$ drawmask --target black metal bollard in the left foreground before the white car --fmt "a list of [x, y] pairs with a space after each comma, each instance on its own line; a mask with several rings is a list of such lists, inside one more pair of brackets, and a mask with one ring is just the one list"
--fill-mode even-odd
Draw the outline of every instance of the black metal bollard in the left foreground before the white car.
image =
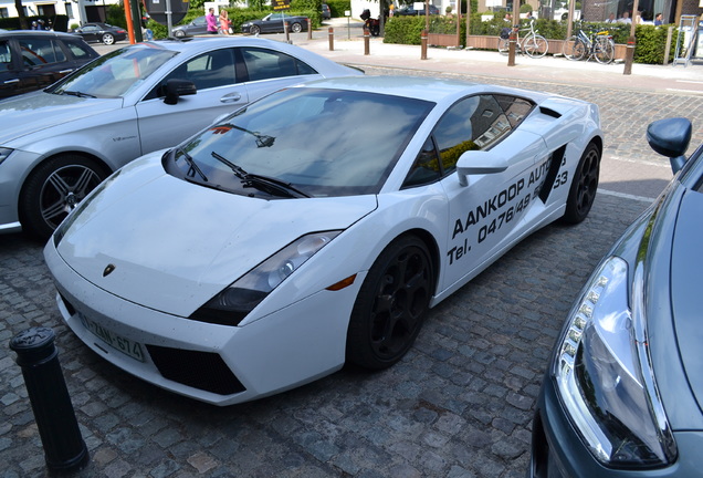
[[66, 382], [54, 346], [54, 331], [32, 328], [10, 341], [22, 368], [46, 466], [52, 471], [73, 471], [88, 463]]

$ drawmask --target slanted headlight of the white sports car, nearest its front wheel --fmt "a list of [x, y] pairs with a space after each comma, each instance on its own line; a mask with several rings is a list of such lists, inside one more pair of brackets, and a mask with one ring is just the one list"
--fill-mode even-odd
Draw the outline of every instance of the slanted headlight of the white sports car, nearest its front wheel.
[[340, 230], [303, 236], [242, 276], [212, 298], [190, 319], [222, 325], [238, 325], [285, 278], [329, 243]]

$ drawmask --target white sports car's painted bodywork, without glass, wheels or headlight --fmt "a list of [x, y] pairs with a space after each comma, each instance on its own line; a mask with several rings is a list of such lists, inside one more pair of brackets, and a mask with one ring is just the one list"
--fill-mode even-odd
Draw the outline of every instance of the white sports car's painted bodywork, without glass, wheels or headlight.
[[[264, 200], [174, 177], [164, 170], [160, 153], [125, 166], [81, 211], [57, 247], [50, 241], [45, 248], [62, 315], [91, 349], [158, 386], [218, 405], [332, 373], [344, 364], [349, 318], [364, 280], [389, 245], [408, 233], [423, 238], [436, 258], [429, 303], [436, 305], [525, 236], [564, 215], [581, 154], [601, 135], [597, 107], [539, 93], [485, 85], [461, 90], [431, 79], [339, 79], [313, 86], [433, 98], [438, 104], [377, 195]], [[532, 97], [543, 102], [542, 110], [533, 110], [487, 154], [463, 153], [457, 167], [469, 172], [468, 185], [454, 172], [401, 188], [443, 112], [466, 94], [483, 92]], [[329, 230], [342, 232], [238, 326], [187, 319], [296, 238]], [[103, 277], [108, 264], [114, 271]], [[348, 287], [327, 289], [345, 279], [352, 279]], [[130, 341], [213, 352], [245, 391], [220, 395], [167, 380], [148, 356], [139, 362], [103, 344], [65, 302]]]

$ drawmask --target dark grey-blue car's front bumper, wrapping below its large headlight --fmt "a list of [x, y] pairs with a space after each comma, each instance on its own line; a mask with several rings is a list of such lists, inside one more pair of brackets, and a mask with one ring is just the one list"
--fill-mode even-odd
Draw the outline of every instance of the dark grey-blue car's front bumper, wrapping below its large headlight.
[[674, 432], [675, 463], [654, 469], [607, 468], [594, 458], [571, 426], [547, 374], [537, 398], [532, 430], [528, 478], [673, 478], [700, 476], [703, 433]]

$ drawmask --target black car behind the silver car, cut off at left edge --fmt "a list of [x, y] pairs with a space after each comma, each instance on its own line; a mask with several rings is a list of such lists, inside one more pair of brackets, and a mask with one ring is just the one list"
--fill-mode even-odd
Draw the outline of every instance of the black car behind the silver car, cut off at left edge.
[[40, 90], [99, 54], [69, 33], [0, 32], [0, 98]]

